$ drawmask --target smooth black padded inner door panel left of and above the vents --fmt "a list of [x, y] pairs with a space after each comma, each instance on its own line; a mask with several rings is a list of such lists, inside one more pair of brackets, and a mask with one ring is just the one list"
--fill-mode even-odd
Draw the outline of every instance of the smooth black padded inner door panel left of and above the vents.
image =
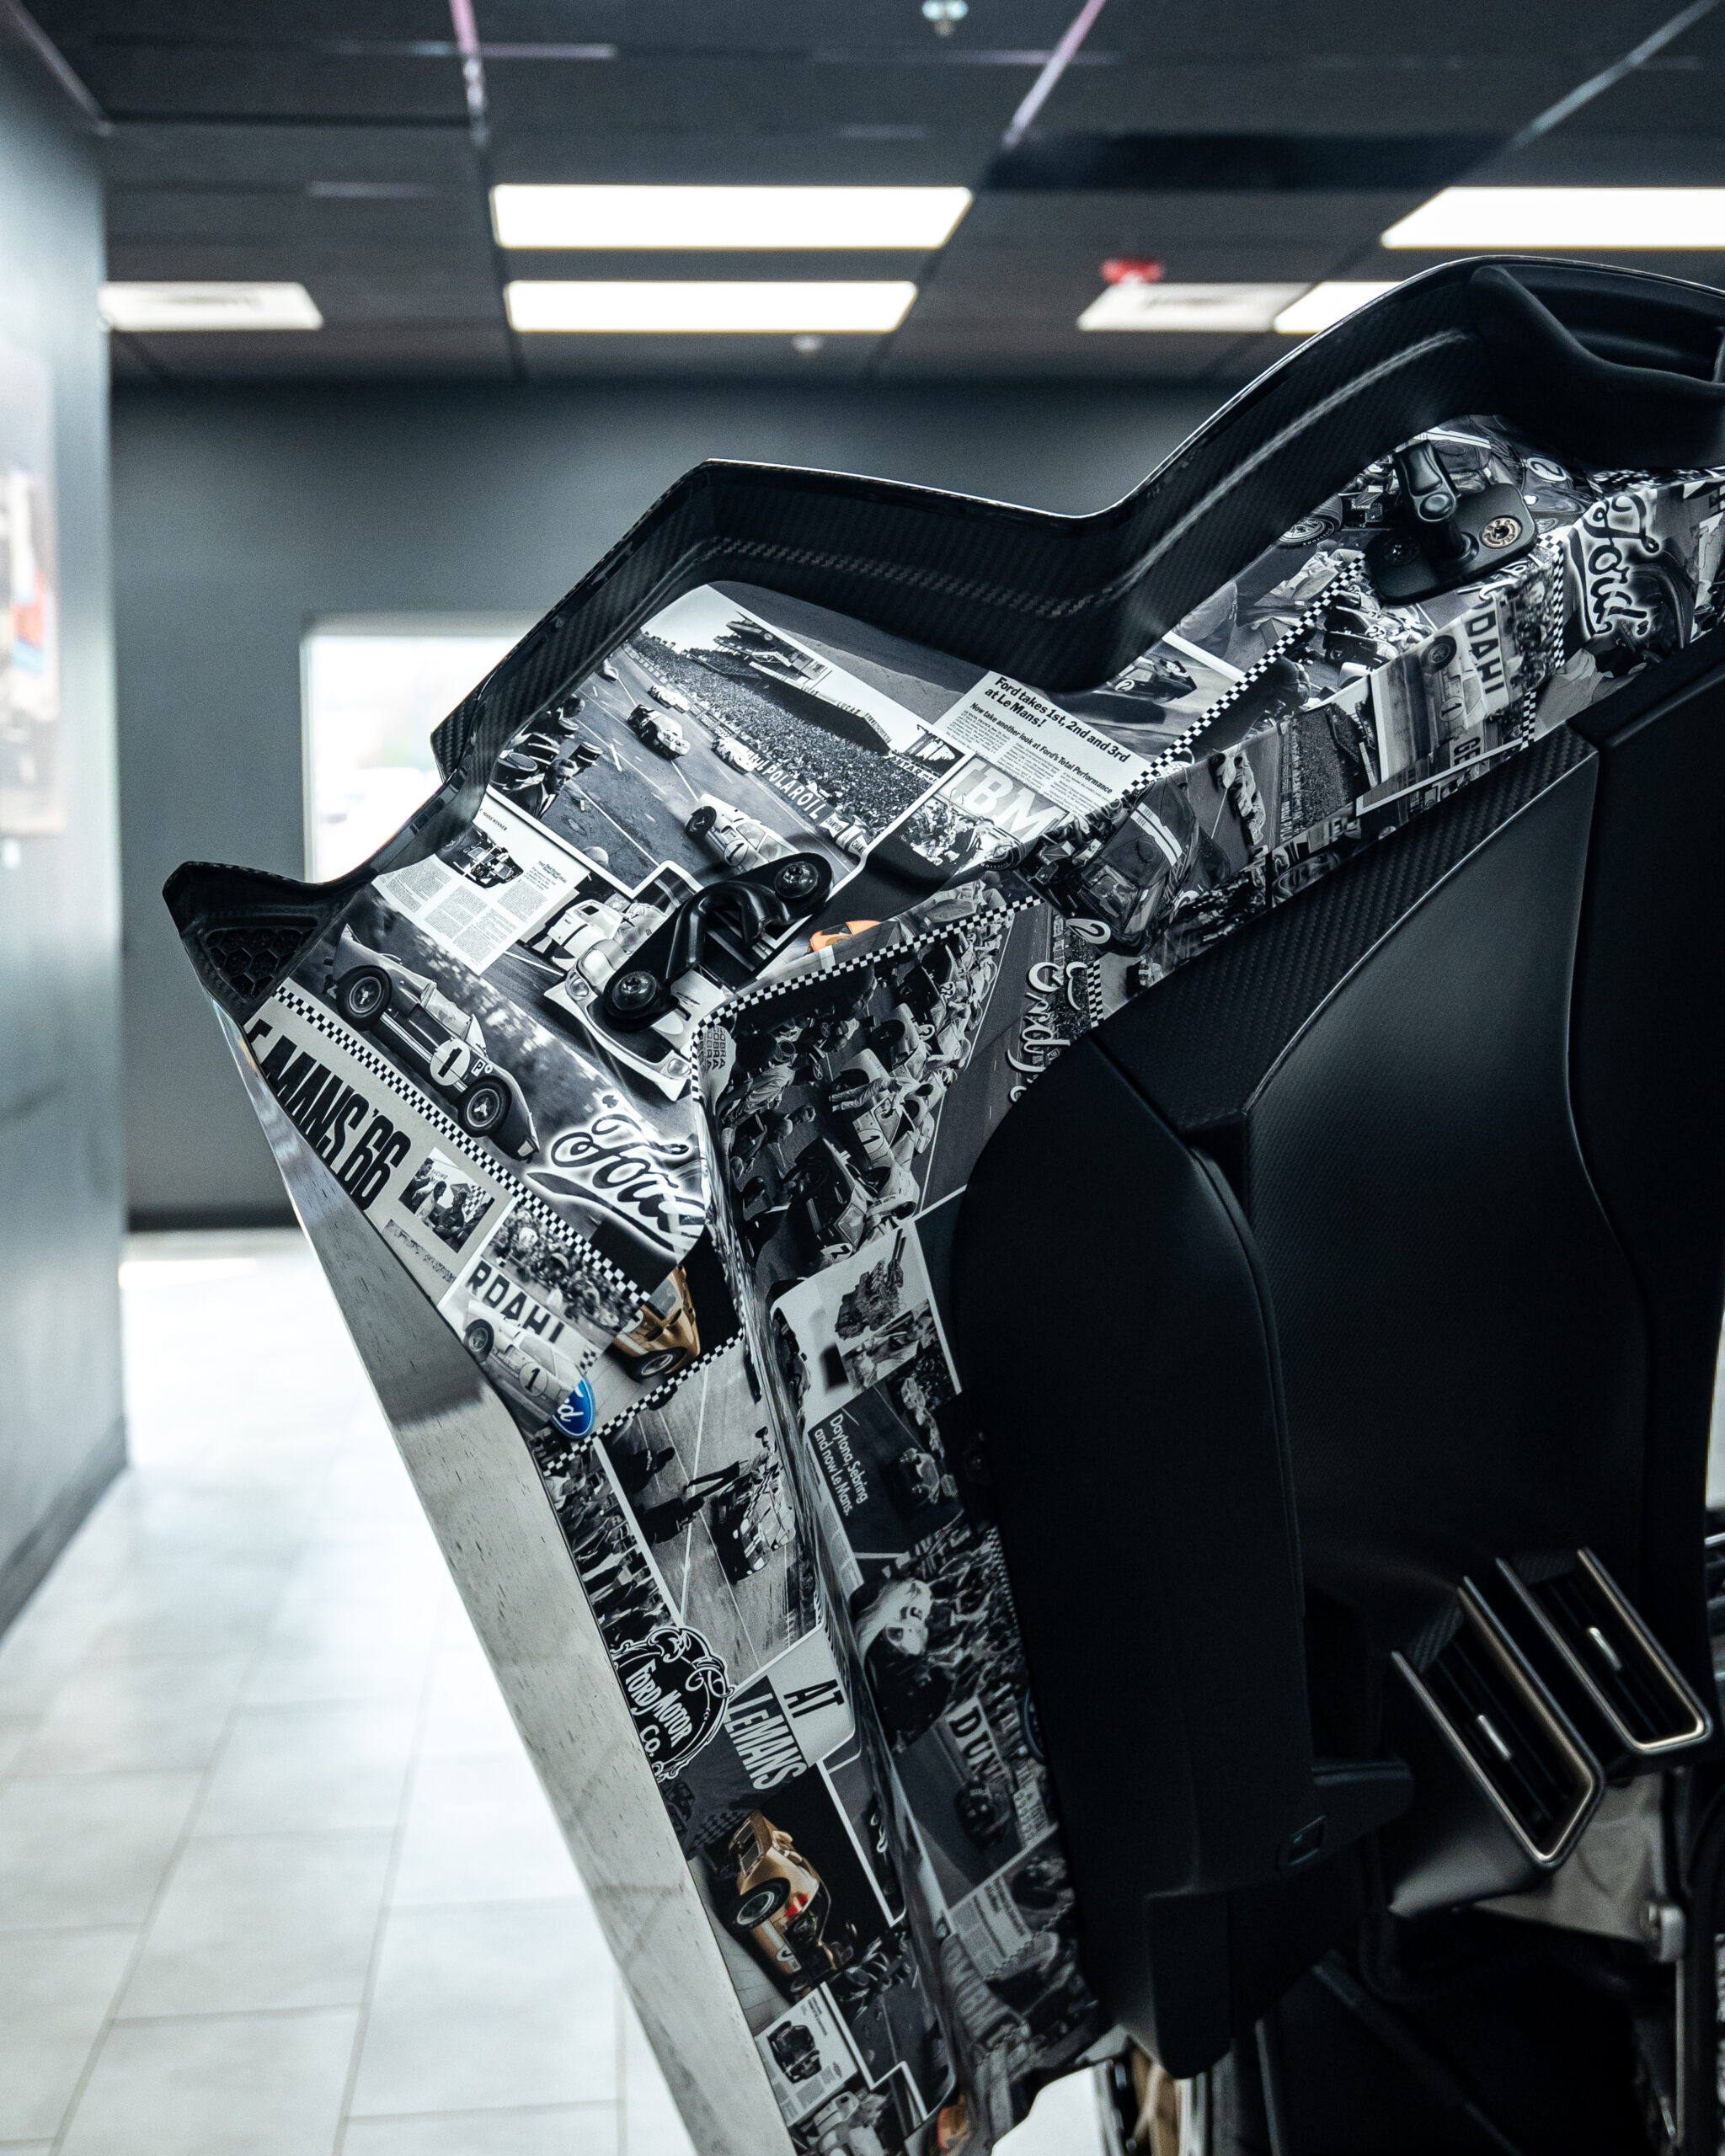
[[[957, 1352], [1089, 1973], [1173, 2072], [1356, 1921], [1358, 1852], [1289, 1882], [1276, 1824], [1313, 1751], [1384, 1755], [1389, 1656], [1462, 1578], [1587, 1544], [1712, 1697], [1725, 923], [1669, 834], [1725, 785], [1714, 668], [1141, 996], [972, 1175]], [[1074, 1369], [1104, 1307], [1121, 1354]]]

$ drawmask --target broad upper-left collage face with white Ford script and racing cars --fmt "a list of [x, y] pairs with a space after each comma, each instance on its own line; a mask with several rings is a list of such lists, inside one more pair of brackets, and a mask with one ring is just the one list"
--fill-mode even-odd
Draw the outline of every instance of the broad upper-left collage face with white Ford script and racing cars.
[[[1065, 735], [1102, 768], [1074, 776]], [[420, 1104], [440, 1164], [416, 1156], [380, 1229], [522, 1410], [569, 1388], [576, 1324], [608, 1421], [735, 1330], [690, 1084], [705, 1013], [938, 890], [925, 811], [1007, 858], [1132, 768], [1000, 675], [701, 586], [530, 718], [474, 824], [358, 890], [265, 1022]], [[932, 1128], [951, 1076], [936, 1054], [901, 1119]]]

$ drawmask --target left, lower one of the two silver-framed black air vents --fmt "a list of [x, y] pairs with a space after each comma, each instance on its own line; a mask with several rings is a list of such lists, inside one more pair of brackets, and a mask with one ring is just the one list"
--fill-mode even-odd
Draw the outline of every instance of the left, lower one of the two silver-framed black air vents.
[[1458, 1600], [1462, 1623], [1425, 1669], [1402, 1654], [1395, 1667], [1522, 1852], [1550, 1869], [1574, 1848], [1604, 1774], [1471, 1580]]

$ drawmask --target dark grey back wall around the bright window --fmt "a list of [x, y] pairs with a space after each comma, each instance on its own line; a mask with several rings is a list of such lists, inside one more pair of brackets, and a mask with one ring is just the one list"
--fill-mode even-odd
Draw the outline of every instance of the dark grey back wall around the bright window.
[[703, 457], [1098, 509], [1208, 410], [1203, 397], [1136, 390], [813, 384], [121, 392], [114, 591], [134, 1218], [282, 1210], [160, 888], [188, 858], [304, 873], [308, 614], [539, 614]]

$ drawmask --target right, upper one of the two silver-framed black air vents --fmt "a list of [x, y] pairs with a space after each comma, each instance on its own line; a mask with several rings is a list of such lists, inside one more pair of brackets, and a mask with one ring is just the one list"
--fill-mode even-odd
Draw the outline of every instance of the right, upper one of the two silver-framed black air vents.
[[1542, 1578], [1503, 1559], [1499, 1572], [1634, 1757], [1712, 1736], [1712, 1716], [1591, 1550]]

